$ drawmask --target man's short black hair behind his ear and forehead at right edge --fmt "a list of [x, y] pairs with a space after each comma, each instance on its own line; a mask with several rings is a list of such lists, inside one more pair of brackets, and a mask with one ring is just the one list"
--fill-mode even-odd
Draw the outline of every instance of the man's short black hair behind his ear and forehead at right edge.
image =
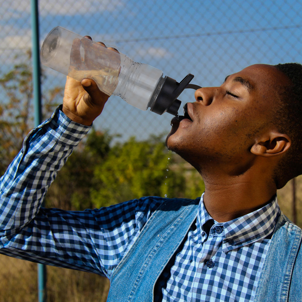
[[285, 63], [275, 67], [290, 80], [290, 84], [283, 86], [279, 92], [280, 106], [274, 117], [278, 130], [291, 138], [291, 147], [275, 170], [275, 182], [279, 189], [302, 174], [302, 65]]

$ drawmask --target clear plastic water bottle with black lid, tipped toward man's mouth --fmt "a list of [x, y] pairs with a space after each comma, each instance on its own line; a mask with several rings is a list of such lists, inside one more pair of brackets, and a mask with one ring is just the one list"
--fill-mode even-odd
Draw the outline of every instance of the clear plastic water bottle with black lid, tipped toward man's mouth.
[[188, 74], [180, 83], [157, 68], [133, 62], [117, 51], [75, 34], [63, 27], [53, 28], [45, 38], [41, 63], [81, 81], [95, 80], [101, 91], [117, 95], [128, 104], [157, 114], [177, 114], [181, 101], [177, 99], [185, 88], [200, 88], [189, 82]]

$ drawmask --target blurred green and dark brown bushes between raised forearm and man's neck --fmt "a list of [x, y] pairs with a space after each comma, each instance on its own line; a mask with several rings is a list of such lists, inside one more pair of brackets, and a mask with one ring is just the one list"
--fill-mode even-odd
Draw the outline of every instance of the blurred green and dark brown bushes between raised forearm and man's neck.
[[200, 175], [185, 172], [187, 168], [168, 152], [162, 136], [146, 141], [132, 137], [111, 146], [112, 139], [107, 132], [91, 130], [50, 186], [47, 207], [83, 210], [149, 195], [196, 198], [202, 194]]

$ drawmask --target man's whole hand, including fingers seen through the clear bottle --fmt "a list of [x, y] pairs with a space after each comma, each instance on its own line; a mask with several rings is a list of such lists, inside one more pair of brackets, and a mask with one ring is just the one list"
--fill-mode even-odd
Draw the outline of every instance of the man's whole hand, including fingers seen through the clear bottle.
[[[92, 38], [85, 36], [81, 41], [79, 39], [75, 39], [73, 41], [70, 54], [69, 76], [67, 76], [63, 98], [63, 112], [71, 120], [86, 126], [90, 126], [93, 120], [95, 120], [95, 118], [101, 114], [104, 105], [109, 98], [109, 95], [100, 91], [96, 82], [91, 79], [93, 78], [93, 75], [91, 74], [93, 70], [97, 70], [98, 74], [101, 75], [102, 68], [105, 68], [106, 66], [98, 66], [94, 60], [90, 59], [90, 57], [94, 57], [90, 55], [90, 52], [100, 52], [100, 50], [99, 48], [95, 47], [95, 44], [94, 46], [91, 46], [91, 42], [89, 40], [92, 41]], [[98, 42], [97, 44], [107, 48], [102, 42]], [[81, 58], [81, 45], [85, 50], [84, 58]], [[112, 47], [108, 47], [108, 49], [112, 51], [112, 56], [114, 57], [111, 58], [112, 61], [116, 62], [114, 69], [116, 71], [116, 76], [113, 77], [115, 80], [112, 83], [110, 82], [107, 84], [112, 86], [108, 88], [108, 91], [113, 91], [117, 85], [117, 79], [120, 72], [119, 52]], [[111, 59], [109, 56], [108, 64], [112, 65]], [[105, 64], [106, 60], [103, 61]], [[82, 81], [79, 82], [75, 79], [72, 79], [73, 72], [76, 72], [77, 74], [82, 72], [83, 78], [87, 78], [82, 79]], [[111, 71], [111, 73], [114, 74], [113, 71]], [[105, 79], [102, 76], [97, 76], [97, 78], [100, 83], [102, 83], [102, 81]]]

